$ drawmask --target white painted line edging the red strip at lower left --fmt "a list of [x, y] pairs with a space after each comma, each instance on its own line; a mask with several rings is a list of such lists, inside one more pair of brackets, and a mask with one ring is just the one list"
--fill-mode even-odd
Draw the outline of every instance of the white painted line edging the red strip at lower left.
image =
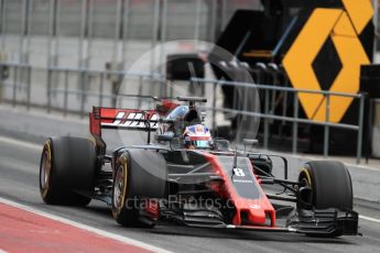
[[[83, 229], [83, 230], [96, 233], [96, 234], [105, 237], [105, 238], [109, 238], [109, 239], [112, 239], [112, 240], [116, 240], [116, 241], [119, 241], [119, 242], [122, 242], [122, 243], [127, 243], [127, 244], [130, 244], [130, 245], [133, 245], [133, 246], [138, 246], [138, 248], [141, 248], [143, 250], [148, 250], [148, 251], [152, 251], [152, 252], [160, 252], [160, 253], [170, 253], [170, 251], [166, 251], [166, 250], [158, 248], [158, 246], [153, 246], [151, 244], [148, 244], [148, 243], [144, 243], [144, 242], [141, 242], [141, 241], [138, 241], [138, 240], [134, 240], [134, 239], [130, 239], [130, 238], [126, 238], [126, 237], [122, 237], [122, 235], [119, 235], [119, 234], [116, 234], [116, 233], [106, 232], [106, 231], [102, 231], [100, 229], [96, 229], [96, 228], [93, 228], [93, 227], [89, 227], [89, 226], [86, 226], [86, 224], [82, 224], [82, 223], [78, 223], [78, 222], [75, 222], [75, 221], [72, 221], [72, 220], [68, 220], [68, 219], [55, 216], [55, 215], [51, 215], [51, 213], [47, 213], [47, 212], [44, 212], [44, 211], [40, 211], [40, 210], [34, 209], [32, 207], [24, 206], [24, 205], [21, 205], [21, 204], [18, 204], [18, 202], [14, 202], [14, 201], [1, 198], [1, 197], [0, 197], [0, 202], [9, 205], [11, 207], [20, 208], [22, 210], [32, 212], [32, 213], [37, 215], [37, 216], [45, 217], [47, 219], [56, 220], [56, 221], [63, 222], [65, 224], [73, 226], [75, 228]], [[0, 250], [0, 253], [2, 253], [1, 250]]]

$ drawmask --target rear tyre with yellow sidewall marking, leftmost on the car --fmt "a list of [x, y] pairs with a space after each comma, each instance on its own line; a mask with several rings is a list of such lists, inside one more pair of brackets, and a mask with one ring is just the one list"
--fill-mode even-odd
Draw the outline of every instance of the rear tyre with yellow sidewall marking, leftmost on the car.
[[50, 205], [86, 206], [94, 190], [95, 145], [88, 139], [50, 138], [42, 151], [40, 193]]

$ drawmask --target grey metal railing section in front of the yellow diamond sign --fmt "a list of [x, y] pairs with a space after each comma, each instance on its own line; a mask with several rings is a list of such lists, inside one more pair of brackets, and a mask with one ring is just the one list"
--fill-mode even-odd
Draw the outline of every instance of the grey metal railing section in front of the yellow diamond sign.
[[[337, 129], [345, 129], [351, 130], [357, 132], [357, 163], [360, 163], [361, 154], [362, 154], [362, 132], [363, 132], [363, 119], [365, 119], [365, 102], [366, 102], [366, 94], [345, 94], [345, 92], [332, 92], [332, 91], [324, 91], [324, 90], [307, 90], [307, 89], [294, 89], [287, 87], [279, 87], [279, 86], [269, 86], [269, 85], [257, 85], [250, 82], [237, 82], [237, 81], [226, 81], [226, 80], [207, 80], [207, 79], [199, 79], [199, 78], [192, 78], [192, 82], [195, 82], [200, 86], [211, 85], [213, 86], [213, 97], [211, 97], [211, 107], [207, 107], [205, 109], [210, 110], [213, 112], [213, 127], [216, 125], [215, 123], [215, 116], [216, 112], [227, 112], [227, 113], [236, 113], [239, 116], [245, 117], [252, 117], [252, 118], [260, 118], [263, 122], [263, 147], [268, 148], [269, 143], [269, 124], [271, 120], [279, 120], [283, 122], [291, 122], [293, 124], [292, 128], [292, 152], [293, 154], [297, 153], [297, 139], [298, 139], [298, 124], [310, 124], [310, 125], [323, 125], [324, 127], [324, 150], [323, 155], [324, 157], [328, 156], [329, 152], [329, 130], [330, 128]], [[249, 89], [254, 90], [262, 90], [264, 94], [264, 109], [262, 112], [252, 112], [247, 111], [243, 109], [245, 106], [240, 107], [242, 110], [236, 109], [228, 109], [228, 108], [218, 108], [216, 107], [216, 97], [215, 91], [217, 87], [221, 86], [232, 86], [235, 88], [242, 89], [242, 94], [247, 95]], [[274, 110], [270, 110], [271, 98], [275, 92], [283, 92], [283, 94], [293, 94], [293, 117], [289, 117], [285, 113], [275, 114]], [[322, 95], [324, 100], [326, 101], [325, 107], [325, 121], [314, 121], [305, 118], [300, 118], [300, 94], [310, 94], [310, 95]], [[330, 108], [330, 98], [332, 97], [346, 97], [346, 98], [354, 98], [359, 100], [359, 113], [358, 113], [358, 123], [357, 124], [346, 124], [346, 123], [334, 123], [330, 122], [329, 114], [332, 111]], [[247, 99], [250, 99], [247, 96], [240, 96], [239, 102], [240, 105], [247, 105]]]

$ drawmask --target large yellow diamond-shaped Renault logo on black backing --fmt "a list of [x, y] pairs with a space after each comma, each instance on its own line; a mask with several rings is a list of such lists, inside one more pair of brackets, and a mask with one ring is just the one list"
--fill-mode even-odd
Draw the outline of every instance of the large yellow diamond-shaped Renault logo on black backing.
[[[359, 91], [360, 65], [370, 61], [358, 34], [373, 15], [370, 0], [343, 0], [340, 9], [315, 9], [283, 59], [283, 66], [294, 88], [321, 90], [312, 64], [328, 37], [332, 38], [343, 68], [330, 91], [356, 94]], [[339, 122], [352, 98], [330, 97], [329, 121]], [[300, 94], [300, 101], [308, 119], [326, 120], [323, 95]]]

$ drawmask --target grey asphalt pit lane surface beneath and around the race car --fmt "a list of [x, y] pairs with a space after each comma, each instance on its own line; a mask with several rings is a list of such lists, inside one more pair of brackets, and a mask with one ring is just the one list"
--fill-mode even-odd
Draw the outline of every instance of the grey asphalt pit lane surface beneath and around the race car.
[[[91, 201], [86, 208], [47, 206], [39, 193], [37, 145], [0, 139], [0, 197], [173, 252], [378, 252], [380, 223], [360, 219], [363, 237], [315, 239], [294, 233], [198, 229], [162, 223], [154, 229], [122, 228], [109, 207]], [[362, 216], [380, 219], [380, 205], [355, 200]], [[0, 224], [1, 226], [1, 224]], [[43, 239], [42, 239], [43, 240]]]

